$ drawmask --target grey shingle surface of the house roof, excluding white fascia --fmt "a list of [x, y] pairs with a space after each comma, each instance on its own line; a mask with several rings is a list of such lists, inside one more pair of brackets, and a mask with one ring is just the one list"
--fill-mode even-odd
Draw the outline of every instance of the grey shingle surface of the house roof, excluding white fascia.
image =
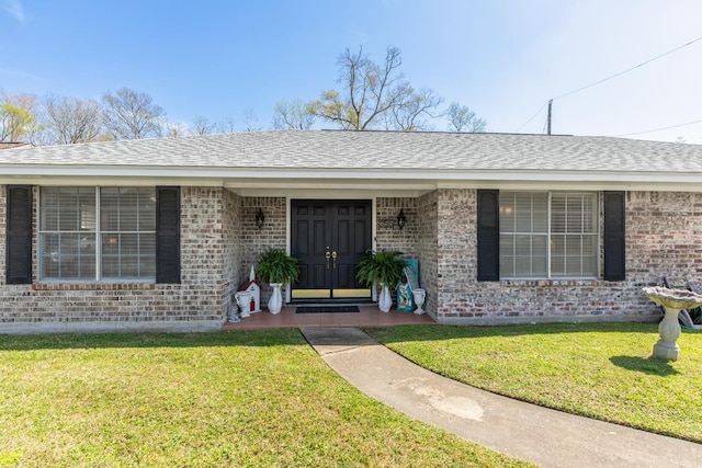
[[702, 173], [702, 146], [612, 137], [275, 130], [0, 151], [0, 165], [16, 164]]

